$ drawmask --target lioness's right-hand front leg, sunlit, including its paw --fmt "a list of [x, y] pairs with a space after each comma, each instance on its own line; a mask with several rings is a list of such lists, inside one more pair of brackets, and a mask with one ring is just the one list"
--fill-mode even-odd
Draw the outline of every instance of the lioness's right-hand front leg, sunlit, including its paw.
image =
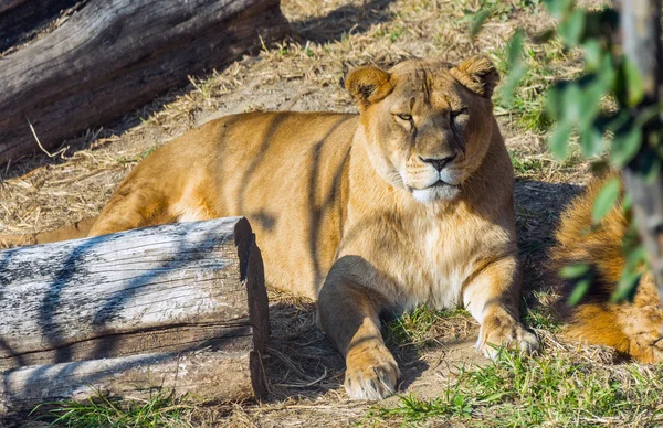
[[496, 346], [533, 353], [536, 335], [519, 321], [520, 274], [516, 256], [494, 261], [475, 274], [463, 289], [463, 302], [481, 324], [476, 349], [494, 359]]

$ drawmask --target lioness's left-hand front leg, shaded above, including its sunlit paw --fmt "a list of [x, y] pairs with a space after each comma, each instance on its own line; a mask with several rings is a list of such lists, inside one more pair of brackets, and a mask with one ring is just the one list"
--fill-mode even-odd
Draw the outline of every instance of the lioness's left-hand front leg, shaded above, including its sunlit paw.
[[381, 399], [396, 392], [400, 376], [380, 332], [379, 313], [387, 302], [358, 282], [356, 266], [345, 261], [347, 257], [332, 267], [319, 292], [318, 321], [345, 355], [345, 388], [350, 398]]

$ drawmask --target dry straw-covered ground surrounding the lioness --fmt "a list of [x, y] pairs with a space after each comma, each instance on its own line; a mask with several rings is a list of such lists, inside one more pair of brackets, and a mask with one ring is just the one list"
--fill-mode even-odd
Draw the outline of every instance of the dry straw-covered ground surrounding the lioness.
[[[295, 36], [245, 56], [224, 69], [191, 77], [191, 84], [129, 114], [90, 129], [52, 153], [22, 159], [1, 171], [0, 231], [33, 233], [92, 216], [119, 181], [155, 147], [212, 118], [256, 109], [354, 111], [340, 82], [358, 65], [388, 67], [411, 56], [456, 62], [495, 54], [518, 26], [536, 31], [550, 23], [536, 2], [503, 2], [473, 39], [469, 25], [475, 0], [283, 0]], [[534, 3], [534, 6], [532, 6]], [[545, 250], [559, 211], [588, 180], [586, 163], [560, 165], [545, 148], [543, 132], [525, 131], [507, 110], [496, 109], [509, 151], [537, 162], [517, 171], [515, 205], [527, 296], [546, 286]], [[200, 409], [200, 426], [371, 425], [372, 404], [350, 402], [343, 390], [343, 359], [317, 330], [312, 302], [270, 292], [273, 340], [271, 398]], [[474, 352], [476, 323], [454, 317], [436, 329], [423, 350], [396, 346], [403, 372], [401, 394], [441, 394], [463, 364], [483, 364]], [[380, 403], [393, 405], [397, 397]]]

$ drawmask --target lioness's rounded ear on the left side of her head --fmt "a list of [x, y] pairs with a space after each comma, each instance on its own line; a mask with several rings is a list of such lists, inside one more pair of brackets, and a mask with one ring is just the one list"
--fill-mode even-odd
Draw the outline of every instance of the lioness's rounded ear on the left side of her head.
[[391, 93], [393, 86], [389, 77], [389, 73], [373, 66], [356, 68], [348, 74], [346, 90], [355, 98], [359, 111]]

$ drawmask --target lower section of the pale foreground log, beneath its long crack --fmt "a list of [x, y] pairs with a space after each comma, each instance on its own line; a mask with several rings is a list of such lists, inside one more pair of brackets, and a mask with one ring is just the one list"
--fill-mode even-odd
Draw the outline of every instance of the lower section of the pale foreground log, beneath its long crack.
[[99, 395], [148, 400], [166, 390], [204, 403], [251, 399], [250, 364], [244, 352], [200, 351], [21, 367], [3, 374], [0, 426], [2, 419], [39, 404], [86, 402]]

